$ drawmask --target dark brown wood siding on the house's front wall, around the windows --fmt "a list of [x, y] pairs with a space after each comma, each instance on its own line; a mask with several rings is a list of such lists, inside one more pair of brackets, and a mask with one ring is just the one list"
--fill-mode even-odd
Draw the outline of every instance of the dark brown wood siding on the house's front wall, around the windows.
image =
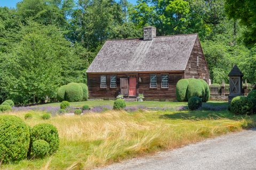
[[[150, 88], [150, 74], [157, 74], [157, 88]], [[164, 73], [166, 74], [166, 73]], [[137, 73], [137, 96], [143, 94], [146, 100], [163, 99], [163, 100], [175, 100], [175, 87], [177, 82], [183, 78], [183, 72], [167, 73], [169, 74], [169, 88], [161, 88], [161, 73]], [[100, 76], [107, 75], [107, 88], [100, 88]], [[110, 75], [116, 75], [116, 88], [110, 88]], [[89, 88], [89, 97], [91, 99], [113, 99], [119, 92], [120, 78], [128, 78], [129, 74], [87, 74], [87, 85]], [[139, 82], [141, 78], [141, 82]]]

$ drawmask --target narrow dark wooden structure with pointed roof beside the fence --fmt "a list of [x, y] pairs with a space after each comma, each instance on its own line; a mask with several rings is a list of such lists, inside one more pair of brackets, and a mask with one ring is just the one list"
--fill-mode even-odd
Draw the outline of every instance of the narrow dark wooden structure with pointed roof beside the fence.
[[243, 94], [243, 76], [244, 74], [238, 69], [237, 65], [234, 65], [233, 69], [228, 74], [229, 77], [229, 96], [228, 102]]

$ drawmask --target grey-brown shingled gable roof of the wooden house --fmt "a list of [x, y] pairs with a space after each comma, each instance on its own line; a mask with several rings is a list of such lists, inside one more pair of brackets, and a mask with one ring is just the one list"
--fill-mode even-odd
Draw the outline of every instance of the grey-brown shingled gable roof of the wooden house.
[[87, 73], [183, 71], [197, 34], [108, 40]]

